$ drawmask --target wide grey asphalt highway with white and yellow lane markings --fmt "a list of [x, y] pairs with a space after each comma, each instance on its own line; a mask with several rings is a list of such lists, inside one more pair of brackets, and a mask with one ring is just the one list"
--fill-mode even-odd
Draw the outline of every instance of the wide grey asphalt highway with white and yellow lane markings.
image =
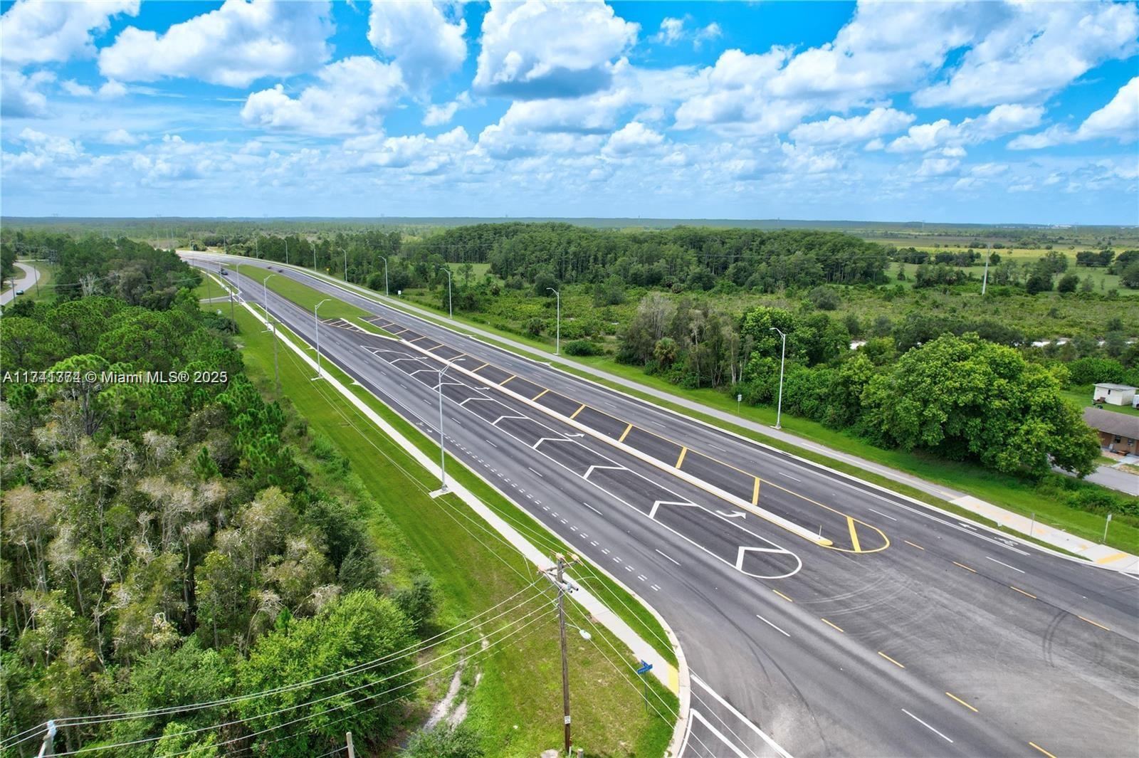
[[[197, 254], [197, 259], [211, 256]], [[216, 269], [216, 259], [204, 264]], [[1134, 756], [1139, 582], [272, 265], [371, 314], [323, 359], [644, 596], [686, 756]], [[260, 281], [230, 272], [260, 303]], [[269, 293], [310, 344], [310, 311]]]

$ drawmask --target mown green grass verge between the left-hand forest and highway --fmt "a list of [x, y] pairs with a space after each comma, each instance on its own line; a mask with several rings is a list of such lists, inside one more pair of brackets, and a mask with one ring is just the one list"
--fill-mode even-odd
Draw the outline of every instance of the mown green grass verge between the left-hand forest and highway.
[[[260, 322], [244, 308], [238, 323], [248, 372], [268, 388], [271, 386], [272, 338], [261, 331]], [[383, 511], [385, 524], [390, 522], [402, 534], [424, 569], [437, 582], [443, 596], [441, 625], [494, 605], [536, 578], [534, 569], [513, 549], [497, 543], [495, 533], [465, 504], [453, 496], [427, 496], [437, 484], [435, 479], [327, 384], [311, 381], [311, 369], [292, 351], [282, 348], [280, 354], [281, 384], [288, 402], [308, 420], [311, 429], [326, 436], [349, 460], [352, 471]], [[339, 373], [335, 369], [333, 372]], [[349, 384], [343, 374], [338, 378]], [[358, 389], [353, 387], [353, 392]], [[384, 415], [388, 422], [399, 420], [391, 418], [394, 417], [391, 413]], [[401, 431], [411, 439], [419, 437], [409, 426]], [[482, 484], [473, 481], [470, 475], [462, 476], [459, 465], [452, 464], [449, 471], [473, 489]], [[484, 492], [478, 494], [486, 501], [497, 494], [484, 484], [482, 489]], [[498, 497], [505, 500], [501, 495]], [[499, 503], [495, 510], [505, 512], [507, 509]], [[519, 528], [524, 525], [522, 517], [519, 512], [511, 519]], [[532, 524], [528, 529], [532, 539], [543, 547], [566, 550], [557, 541], [541, 537], [536, 525]], [[637, 702], [640, 683], [630, 681], [624, 667], [618, 672], [614, 666], [622, 664], [621, 643], [607, 632], [592, 628], [580, 609], [571, 605], [572, 621], [593, 634], [592, 642], [587, 643], [577, 636], [571, 642], [575, 744], [587, 748], [589, 755], [661, 755], [671, 738], [673, 722], [655, 714], [646, 716], [642, 708], [630, 707]], [[534, 756], [560, 743], [557, 625], [548, 617], [530, 628], [534, 629], [533, 634], [523, 633], [510, 644], [476, 661], [483, 677], [467, 695], [468, 719], [483, 732], [487, 755]], [[421, 717], [431, 697], [437, 697], [445, 689], [449, 674], [441, 676], [420, 698], [412, 718]], [[465, 679], [469, 682], [470, 676], [468, 670]], [[650, 684], [657, 708], [674, 712], [675, 698], [655, 682]]]

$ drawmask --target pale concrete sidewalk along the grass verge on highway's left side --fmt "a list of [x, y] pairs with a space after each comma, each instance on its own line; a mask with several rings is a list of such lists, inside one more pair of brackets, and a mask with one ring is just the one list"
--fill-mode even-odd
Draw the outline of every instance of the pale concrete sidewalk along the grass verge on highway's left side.
[[[222, 285], [222, 282], [220, 281], [218, 283]], [[269, 322], [265, 320], [265, 316], [260, 310], [254, 308], [252, 305], [249, 305], [249, 303], [245, 302], [244, 299], [241, 302], [241, 305], [255, 318], [257, 318], [268, 326]], [[301, 357], [301, 360], [308, 363], [313, 370], [319, 371], [316, 361], [308, 354], [308, 352], [303, 347], [298, 346], [288, 336], [286, 336], [285, 331], [286, 330], [276, 330], [277, 337], [280, 339], [280, 341], [287, 348], [296, 353]], [[427, 455], [420, 452], [416, 445], [413, 445], [410, 440], [408, 440], [398, 429], [388, 425], [383, 418], [376, 414], [370, 407], [368, 407], [367, 404], [361, 402], [360, 398], [358, 398], [354, 394], [352, 394], [347, 389], [347, 387], [341, 384], [335, 377], [333, 377], [327, 371], [322, 372], [322, 376], [323, 376], [323, 381], [327, 381], [328, 385], [333, 389], [335, 389], [338, 394], [341, 394], [347, 402], [355, 405], [357, 409], [360, 411], [360, 413], [362, 413], [372, 423], [375, 423], [376, 427], [379, 428], [385, 435], [391, 437], [393, 440], [400, 444], [405, 451], [408, 451], [408, 453], [424, 469], [432, 471], [437, 476], [439, 472], [437, 462], [433, 461], [432, 459], [428, 459]], [[474, 471], [474, 473], [476, 476], [480, 476], [480, 478], [482, 478], [482, 476], [477, 471]], [[487, 481], [487, 484], [492, 487], [494, 486], [493, 483]], [[502, 537], [507, 539], [515, 549], [517, 549], [518, 552], [522, 553], [528, 561], [531, 561], [542, 570], [550, 568], [550, 558], [548, 555], [546, 555], [539, 547], [534, 546], [528, 539], [526, 539], [525, 536], [523, 536], [519, 532], [517, 532], [513, 526], [510, 526], [510, 524], [508, 524], [505, 519], [502, 519], [498, 513], [495, 513], [486, 505], [484, 505], [482, 501], [478, 500], [477, 496], [475, 496], [473, 493], [466, 489], [461, 484], [457, 481], [451, 481], [449, 491], [451, 494], [458, 496], [468, 506], [470, 506], [470, 509], [475, 513], [477, 513], [481, 518], [483, 518], [491, 527], [494, 528], [495, 532], [502, 535]], [[611, 579], [621, 584], [616, 577], [613, 577], [611, 574], [605, 571], [604, 568], [593, 567], [593, 570], [605, 572], [606, 576], [608, 576]], [[666, 661], [661, 661], [659, 656], [656, 653], [656, 651], [648, 642], [642, 640], [640, 635], [638, 635], [637, 632], [634, 632], [623, 619], [621, 619], [616, 613], [609, 610], [609, 608], [605, 605], [605, 603], [603, 603], [589, 590], [581, 586], [580, 583], [577, 583], [577, 588], [571, 596], [573, 598], [574, 601], [581, 604], [590, 613], [590, 616], [593, 617], [593, 619], [597, 623], [604, 625], [609, 632], [614, 634], [614, 636], [616, 636], [625, 645], [628, 645], [633, 656], [636, 656], [640, 660], [657, 661], [657, 664], [652, 669], [653, 675], [662, 684], [669, 687], [672, 692], [677, 693], [680, 700], [679, 718], [677, 719], [677, 724], [673, 731], [673, 736], [670, 742], [670, 755], [677, 755], [681, 741], [683, 739], [683, 735], [688, 728], [690, 675], [687, 661], [685, 659], [685, 653], [681, 650], [680, 642], [677, 638], [675, 634], [669, 627], [667, 623], [665, 623], [665, 620], [652, 608], [652, 605], [645, 602], [644, 599], [637, 595], [631, 588], [626, 587], [624, 584], [621, 584], [621, 586], [624, 587], [626, 592], [633, 595], [633, 598], [636, 598], [639, 602], [641, 602], [641, 604], [645, 605], [645, 608], [647, 608], [661, 623], [661, 626], [664, 628], [665, 634], [667, 634], [669, 641], [672, 644], [672, 648], [677, 654], [677, 660], [679, 664], [678, 667], [673, 667], [671, 664]]]

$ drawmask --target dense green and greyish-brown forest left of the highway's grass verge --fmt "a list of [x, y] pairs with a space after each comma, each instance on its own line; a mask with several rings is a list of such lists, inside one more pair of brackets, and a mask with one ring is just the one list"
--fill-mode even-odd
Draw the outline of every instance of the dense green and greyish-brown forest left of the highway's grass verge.
[[[35, 755], [48, 719], [57, 752], [97, 756], [383, 743], [429, 577], [393, 572], [298, 462], [319, 440], [246, 379], [172, 252], [58, 241], [59, 297], [0, 319], [0, 752]], [[188, 377], [122, 381], [139, 371]]]

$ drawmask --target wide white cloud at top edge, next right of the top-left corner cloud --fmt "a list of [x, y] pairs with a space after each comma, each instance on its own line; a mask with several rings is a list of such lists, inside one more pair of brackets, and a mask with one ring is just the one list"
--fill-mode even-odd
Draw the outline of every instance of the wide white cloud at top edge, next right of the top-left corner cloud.
[[226, 0], [163, 34], [123, 30], [99, 51], [99, 71], [128, 82], [172, 76], [226, 86], [309, 72], [329, 57], [330, 13], [327, 1]]

